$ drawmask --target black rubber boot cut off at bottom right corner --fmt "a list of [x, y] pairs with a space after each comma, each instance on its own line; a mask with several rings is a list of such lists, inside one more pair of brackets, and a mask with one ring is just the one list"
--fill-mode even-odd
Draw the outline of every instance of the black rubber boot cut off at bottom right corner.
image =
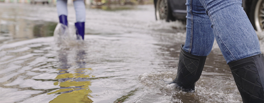
[[228, 63], [243, 103], [264, 103], [264, 57], [258, 54]]

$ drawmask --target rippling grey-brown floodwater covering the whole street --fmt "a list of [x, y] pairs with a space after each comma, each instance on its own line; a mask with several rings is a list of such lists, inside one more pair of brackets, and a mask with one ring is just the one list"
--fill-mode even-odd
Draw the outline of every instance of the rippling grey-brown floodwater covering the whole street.
[[[176, 77], [186, 31], [178, 21], [155, 21], [153, 5], [87, 7], [85, 40], [70, 43], [53, 37], [54, 5], [1, 3], [0, 11], [1, 103], [242, 102], [217, 44], [195, 93], [166, 84]], [[68, 12], [72, 29], [74, 8]]]

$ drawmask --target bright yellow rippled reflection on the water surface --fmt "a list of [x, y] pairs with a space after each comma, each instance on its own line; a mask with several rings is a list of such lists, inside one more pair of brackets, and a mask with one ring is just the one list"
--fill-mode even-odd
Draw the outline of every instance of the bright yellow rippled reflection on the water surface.
[[[92, 70], [91, 68], [80, 69], [58, 69], [60, 72], [55, 79], [59, 79], [58, 82], [54, 82], [54, 85], [59, 85], [62, 89], [50, 92], [48, 94], [60, 94], [49, 103], [92, 103], [89, 98], [92, 97], [89, 94], [92, 93], [89, 86], [91, 82], [88, 81], [90, 76], [84, 73], [86, 70]], [[74, 71], [75, 73], [67, 73], [67, 70]], [[94, 76], [92, 76], [94, 77]], [[67, 79], [68, 78], [68, 79]], [[80, 80], [79, 80], [80, 79]], [[65, 81], [66, 80], [66, 81]], [[87, 80], [87, 81], [86, 81]], [[63, 81], [63, 82], [60, 82]]]

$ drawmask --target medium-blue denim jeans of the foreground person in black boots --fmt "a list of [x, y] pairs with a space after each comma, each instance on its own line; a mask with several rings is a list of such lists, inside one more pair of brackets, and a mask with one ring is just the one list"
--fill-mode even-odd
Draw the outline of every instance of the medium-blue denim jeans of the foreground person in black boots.
[[214, 38], [227, 62], [261, 54], [242, 0], [187, 0], [186, 41], [192, 55], [209, 55]]

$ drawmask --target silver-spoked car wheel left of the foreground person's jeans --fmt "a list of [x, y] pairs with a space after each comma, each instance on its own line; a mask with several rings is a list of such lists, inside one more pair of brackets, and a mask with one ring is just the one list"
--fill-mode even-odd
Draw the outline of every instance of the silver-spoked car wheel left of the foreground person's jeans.
[[157, 0], [155, 5], [156, 20], [175, 21], [168, 0]]

